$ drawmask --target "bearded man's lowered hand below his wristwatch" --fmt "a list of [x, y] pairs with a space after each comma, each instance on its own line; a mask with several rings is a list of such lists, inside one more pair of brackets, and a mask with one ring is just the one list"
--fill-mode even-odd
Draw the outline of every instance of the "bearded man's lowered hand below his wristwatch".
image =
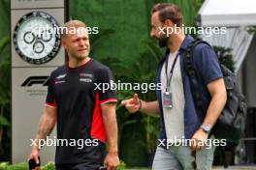
[[201, 150], [208, 140], [208, 133], [202, 128], [199, 128], [192, 136], [192, 145], [190, 146], [192, 151]]

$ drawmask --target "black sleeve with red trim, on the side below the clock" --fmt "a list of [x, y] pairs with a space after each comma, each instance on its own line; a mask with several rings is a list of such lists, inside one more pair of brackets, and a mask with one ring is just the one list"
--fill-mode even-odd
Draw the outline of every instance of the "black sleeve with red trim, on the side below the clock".
[[46, 99], [46, 106], [57, 107], [56, 100], [54, 97], [54, 77], [53, 73], [49, 75], [48, 78], [48, 95]]

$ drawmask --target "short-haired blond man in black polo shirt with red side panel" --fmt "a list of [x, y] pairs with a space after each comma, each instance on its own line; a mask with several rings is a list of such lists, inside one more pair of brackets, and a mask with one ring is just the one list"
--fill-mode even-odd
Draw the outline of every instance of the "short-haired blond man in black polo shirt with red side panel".
[[56, 169], [98, 169], [108, 140], [109, 154], [104, 164], [112, 170], [119, 164], [116, 98], [111, 89], [96, 88], [111, 83], [112, 71], [88, 57], [90, 44], [83, 22], [72, 20], [65, 27], [62, 45], [69, 62], [50, 74], [46, 108], [29, 158], [39, 161], [39, 139], [46, 139], [57, 123]]

